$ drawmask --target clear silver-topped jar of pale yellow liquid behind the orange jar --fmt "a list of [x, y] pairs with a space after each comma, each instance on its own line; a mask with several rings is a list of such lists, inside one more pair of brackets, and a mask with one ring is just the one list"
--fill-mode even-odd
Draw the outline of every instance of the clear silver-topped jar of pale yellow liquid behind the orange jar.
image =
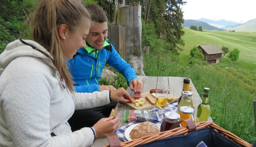
[[181, 106], [188, 106], [188, 107], [194, 108], [194, 105], [192, 102], [192, 96], [193, 96], [193, 93], [191, 91], [182, 91], [181, 92], [181, 101], [178, 104], [177, 112], [179, 111], [179, 108]]

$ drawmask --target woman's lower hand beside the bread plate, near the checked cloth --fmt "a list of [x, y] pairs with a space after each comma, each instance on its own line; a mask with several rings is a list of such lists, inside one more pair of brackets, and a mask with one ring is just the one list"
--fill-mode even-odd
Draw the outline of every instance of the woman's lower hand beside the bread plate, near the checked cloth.
[[96, 133], [95, 139], [101, 137], [103, 134], [114, 132], [118, 128], [119, 123], [119, 118], [117, 116], [114, 119], [113, 116], [100, 119], [93, 126]]

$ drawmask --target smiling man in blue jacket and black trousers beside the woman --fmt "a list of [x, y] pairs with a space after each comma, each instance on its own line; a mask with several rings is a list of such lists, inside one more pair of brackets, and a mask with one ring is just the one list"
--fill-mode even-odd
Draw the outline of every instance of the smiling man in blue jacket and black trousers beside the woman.
[[[134, 69], [120, 57], [107, 39], [108, 18], [103, 9], [96, 4], [90, 4], [87, 5], [87, 10], [91, 14], [93, 24], [90, 27], [89, 35], [85, 39], [86, 47], [77, 50], [73, 59], [67, 63], [75, 82], [76, 91], [90, 93], [116, 90], [113, 86], [98, 84], [105, 64], [109, 64], [124, 75], [132, 91], [142, 91], [143, 83], [140, 79], [137, 79]], [[116, 105], [117, 102], [111, 102], [98, 108], [75, 110], [68, 121], [72, 131], [83, 127], [92, 127], [99, 119], [109, 117], [112, 108]]]

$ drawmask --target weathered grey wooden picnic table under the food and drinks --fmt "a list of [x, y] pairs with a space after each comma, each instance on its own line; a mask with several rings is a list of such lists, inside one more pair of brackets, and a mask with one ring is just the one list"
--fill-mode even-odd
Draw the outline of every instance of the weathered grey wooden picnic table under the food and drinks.
[[[178, 97], [181, 96], [184, 77], [138, 76], [138, 79], [141, 79], [143, 82], [142, 92], [147, 92], [155, 88], [162, 88], [162, 89], [174, 88], [174, 95], [177, 95]], [[196, 114], [197, 106], [202, 102], [202, 100], [199, 94], [197, 93], [196, 88], [193, 85], [192, 81], [190, 81], [190, 86], [193, 86], [193, 104], [196, 106], [195, 107], [195, 114]], [[127, 91], [130, 95], [134, 95], [134, 92], [130, 90], [130, 87], [128, 87]], [[119, 128], [120, 128], [124, 125], [127, 125], [130, 122], [125, 122], [123, 119], [124, 110], [128, 108], [120, 103], [118, 103], [117, 106], [118, 106], [117, 116], [120, 120], [120, 124], [119, 124]], [[122, 142], [122, 140], [120, 140], [120, 142]], [[108, 144], [109, 144], [109, 141], [107, 138], [98, 138], [94, 141], [91, 147], [102, 147]]]

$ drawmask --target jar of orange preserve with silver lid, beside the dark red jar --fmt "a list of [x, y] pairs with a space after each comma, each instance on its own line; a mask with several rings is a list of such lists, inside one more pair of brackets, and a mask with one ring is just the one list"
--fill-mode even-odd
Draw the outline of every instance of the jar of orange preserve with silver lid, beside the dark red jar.
[[[194, 109], [188, 106], [181, 106], [178, 111], [181, 116], [180, 120], [191, 119], [194, 123], [196, 123], [195, 118], [193, 116]], [[181, 126], [186, 126], [185, 122], [181, 122]]]

